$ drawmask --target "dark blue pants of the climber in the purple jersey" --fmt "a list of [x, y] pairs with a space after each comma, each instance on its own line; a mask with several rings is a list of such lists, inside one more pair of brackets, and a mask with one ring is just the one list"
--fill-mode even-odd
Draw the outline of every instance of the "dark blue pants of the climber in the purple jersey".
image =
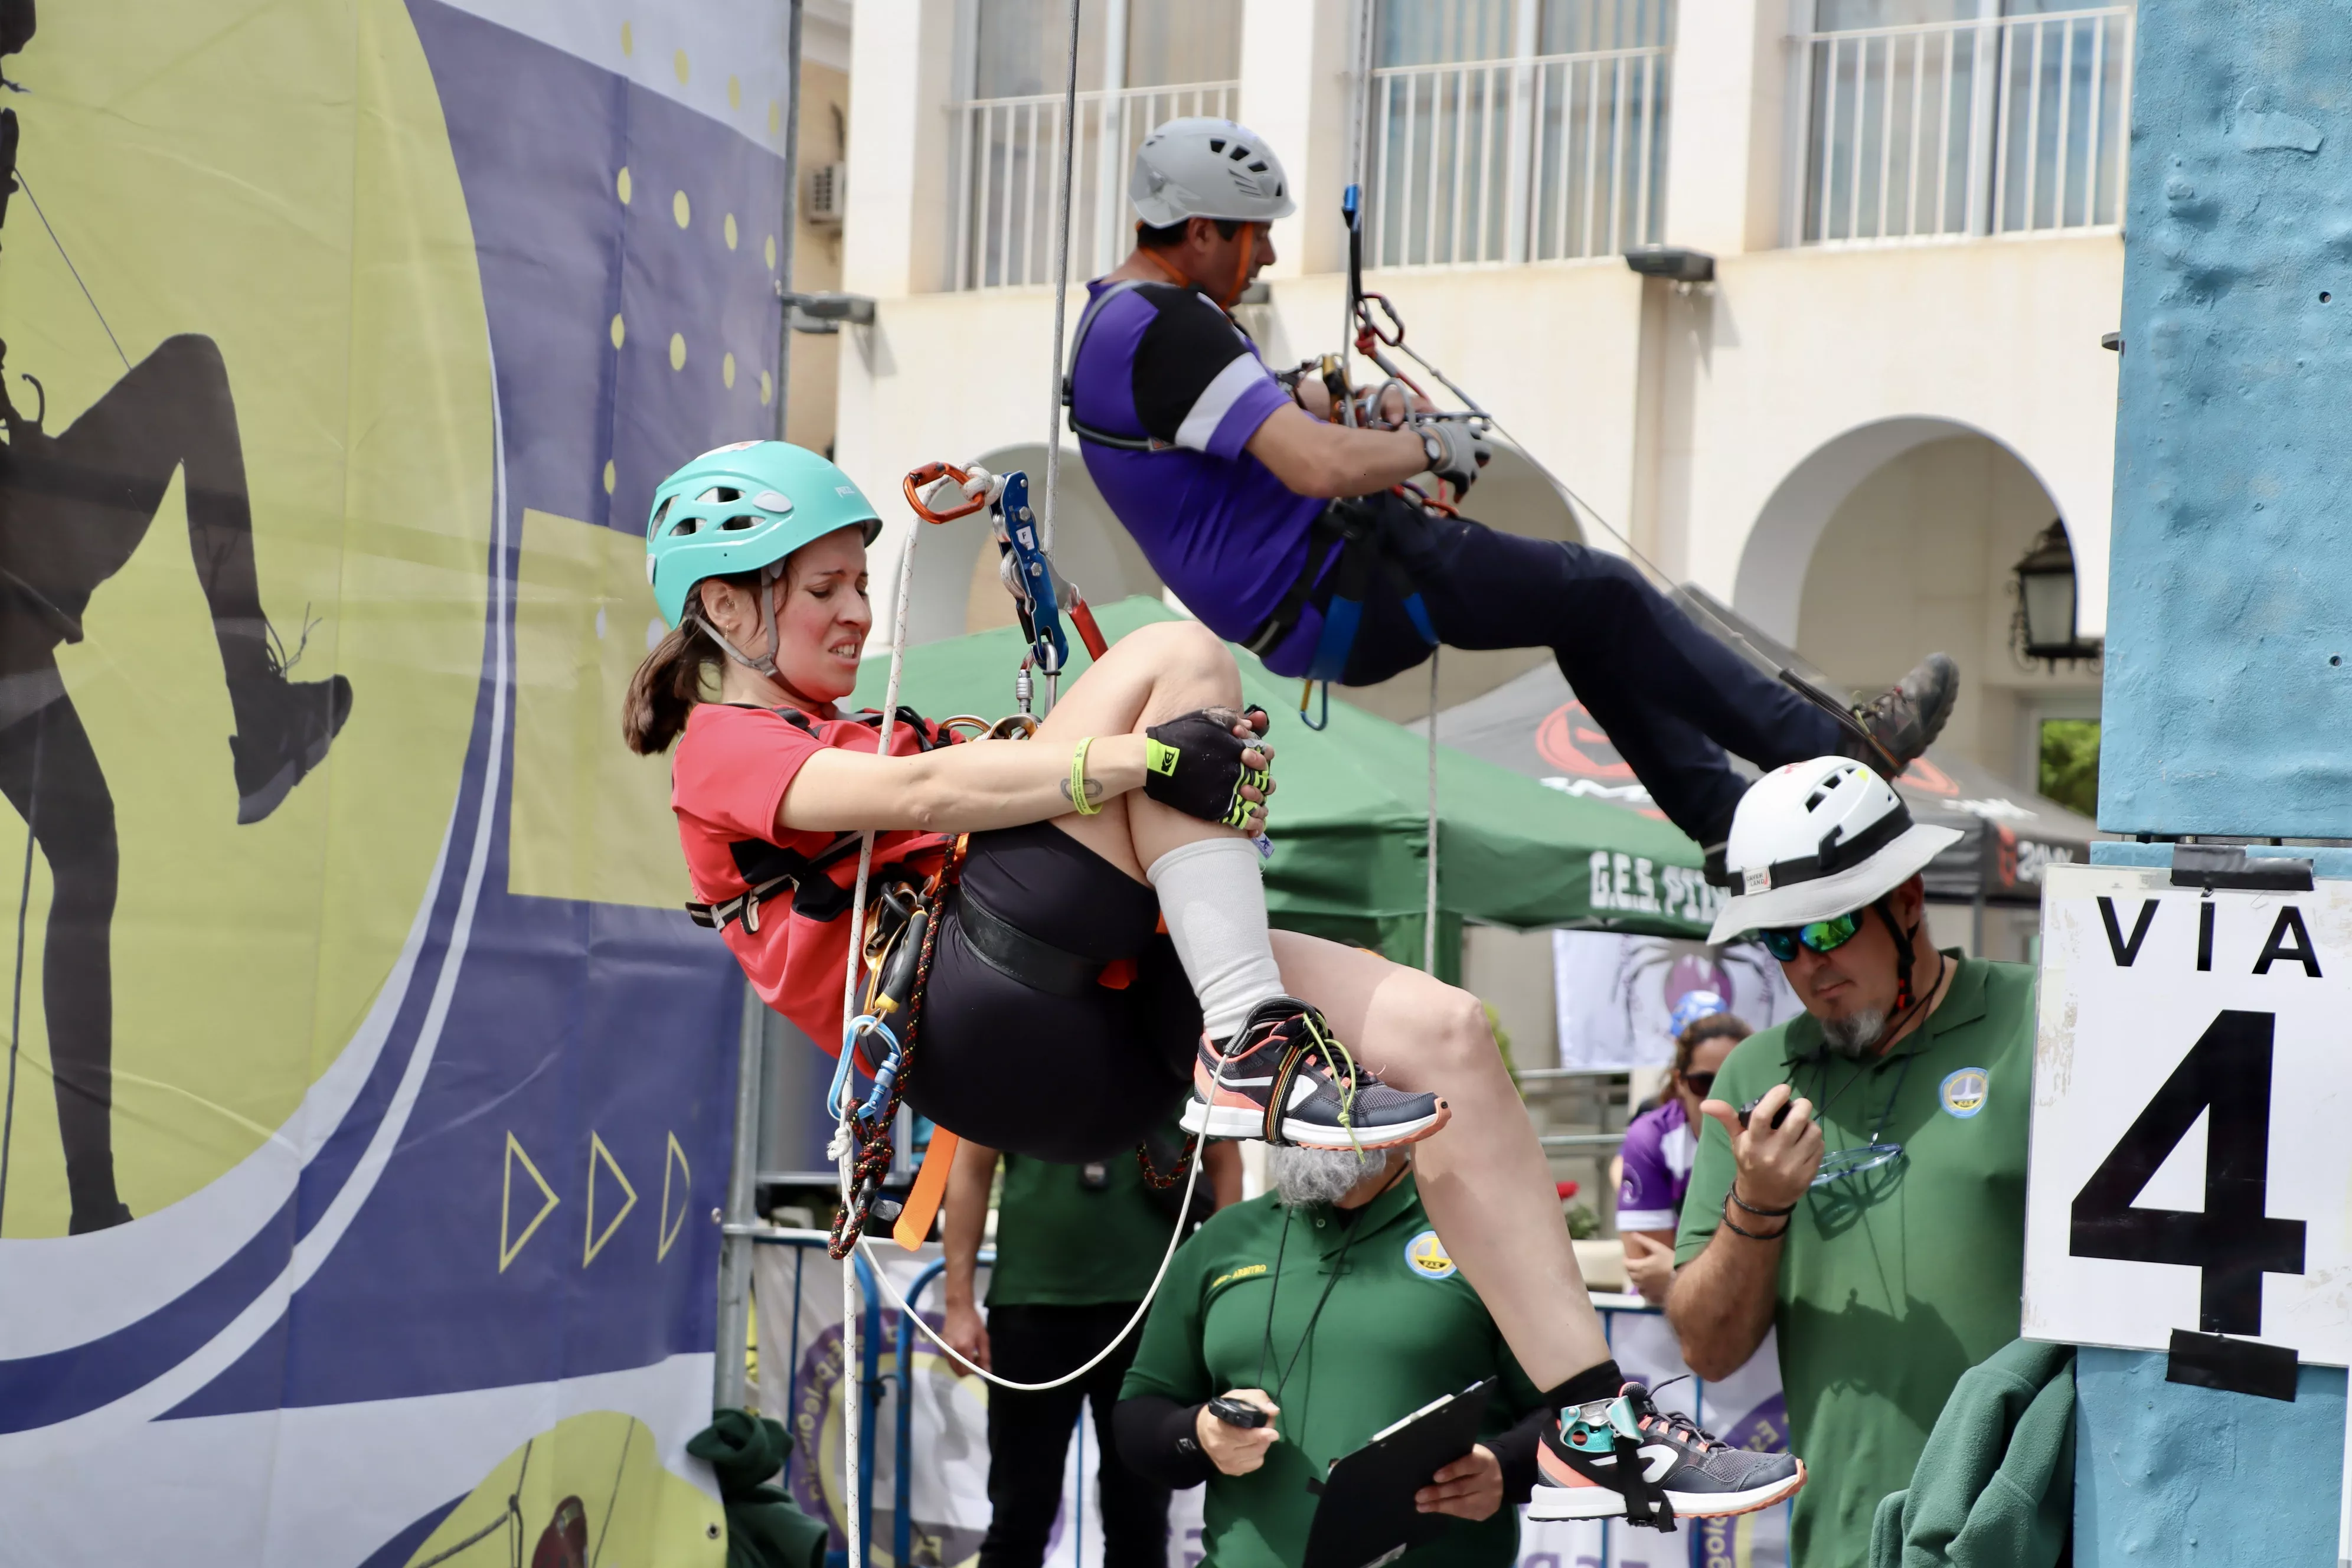
[[[1658, 809], [1700, 844], [1724, 842], [1748, 788], [1726, 750], [1764, 769], [1839, 750], [1837, 719], [1698, 630], [1630, 562], [1383, 501], [1414, 517], [1397, 517], [1392, 538], [1439, 642], [1552, 649]], [[1369, 686], [1428, 656], [1395, 585], [1374, 574], [1341, 684]]]

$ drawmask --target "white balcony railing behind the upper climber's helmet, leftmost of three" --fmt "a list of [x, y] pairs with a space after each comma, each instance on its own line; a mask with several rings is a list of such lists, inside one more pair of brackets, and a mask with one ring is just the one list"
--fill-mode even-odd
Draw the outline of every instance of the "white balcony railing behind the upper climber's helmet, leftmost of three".
[[[1070, 165], [1070, 277], [1098, 277], [1134, 242], [1127, 167], [1162, 120], [1232, 118], [1240, 82], [1185, 82], [1077, 94], [1077, 158]], [[957, 289], [1054, 282], [1061, 94], [955, 103]]]

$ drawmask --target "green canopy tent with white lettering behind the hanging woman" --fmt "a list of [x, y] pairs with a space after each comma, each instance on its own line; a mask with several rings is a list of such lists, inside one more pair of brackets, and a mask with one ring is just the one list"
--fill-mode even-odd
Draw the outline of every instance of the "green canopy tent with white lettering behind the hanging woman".
[[[1157, 599], [1096, 607], [1117, 642], [1148, 621], [1174, 621]], [[1376, 947], [1421, 966], [1428, 889], [1428, 741], [1345, 703], [1331, 726], [1298, 724], [1296, 682], [1249, 654], [1242, 691], [1275, 715], [1279, 748], [1265, 865], [1277, 926]], [[946, 717], [1011, 712], [1021, 635], [1014, 628], [929, 642], [906, 654], [898, 701]], [[1084, 670], [1082, 658], [1073, 658]], [[880, 708], [889, 668], [870, 661], [854, 705]], [[1437, 964], [1458, 978], [1465, 919], [1534, 931], [1583, 926], [1703, 936], [1715, 893], [1698, 846], [1665, 823], [1578, 799], [1449, 745], [1437, 750]]]

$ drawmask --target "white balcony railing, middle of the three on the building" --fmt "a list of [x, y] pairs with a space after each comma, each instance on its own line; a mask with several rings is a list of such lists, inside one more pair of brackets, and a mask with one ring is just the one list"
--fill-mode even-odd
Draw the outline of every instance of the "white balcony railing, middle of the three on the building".
[[1371, 73], [1367, 266], [1609, 256], [1665, 221], [1670, 49]]

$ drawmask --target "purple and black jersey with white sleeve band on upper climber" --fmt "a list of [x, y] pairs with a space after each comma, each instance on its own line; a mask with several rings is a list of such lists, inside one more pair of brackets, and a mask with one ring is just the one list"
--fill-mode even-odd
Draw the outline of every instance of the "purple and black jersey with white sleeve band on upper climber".
[[[1087, 292], [1098, 299], [1112, 287], [1096, 280]], [[1308, 527], [1324, 510], [1244, 451], [1289, 400], [1232, 317], [1164, 282], [1103, 303], [1070, 364], [1077, 425], [1167, 444], [1082, 449], [1096, 489], [1160, 581], [1228, 642], [1244, 642], [1282, 602], [1305, 569]]]

